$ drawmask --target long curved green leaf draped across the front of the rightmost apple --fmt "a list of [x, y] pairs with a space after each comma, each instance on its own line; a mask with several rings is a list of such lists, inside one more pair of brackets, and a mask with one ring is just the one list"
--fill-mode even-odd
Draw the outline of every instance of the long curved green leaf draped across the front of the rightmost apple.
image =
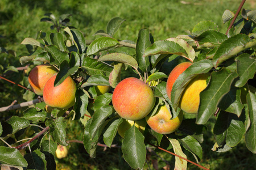
[[179, 75], [176, 79], [174, 85], [172, 86], [172, 93], [171, 93], [171, 102], [172, 106], [176, 110], [180, 97], [187, 86], [187, 84], [195, 78], [195, 76], [199, 74], [205, 74], [212, 69], [213, 65], [212, 62], [208, 59], [202, 59], [198, 62], [194, 62], [191, 66], [189, 66], [183, 73]]

